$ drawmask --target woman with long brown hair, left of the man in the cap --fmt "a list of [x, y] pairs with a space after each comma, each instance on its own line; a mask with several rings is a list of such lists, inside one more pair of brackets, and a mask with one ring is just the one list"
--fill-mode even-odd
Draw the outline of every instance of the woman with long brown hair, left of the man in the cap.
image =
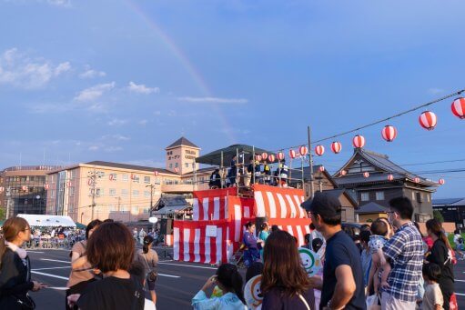
[[314, 310], [315, 296], [294, 237], [285, 231], [270, 234], [263, 258], [262, 308]]

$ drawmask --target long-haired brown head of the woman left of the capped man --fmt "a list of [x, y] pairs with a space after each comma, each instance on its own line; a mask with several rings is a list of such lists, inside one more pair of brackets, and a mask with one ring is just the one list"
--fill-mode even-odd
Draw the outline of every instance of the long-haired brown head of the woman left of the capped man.
[[288, 232], [280, 230], [268, 236], [263, 260], [262, 294], [274, 287], [279, 287], [288, 296], [308, 290], [308, 275], [302, 267], [294, 237]]

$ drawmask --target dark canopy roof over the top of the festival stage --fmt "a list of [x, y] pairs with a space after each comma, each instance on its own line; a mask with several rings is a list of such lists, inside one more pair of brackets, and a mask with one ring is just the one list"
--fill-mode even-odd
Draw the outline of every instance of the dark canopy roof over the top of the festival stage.
[[196, 158], [196, 163], [198, 164], [207, 164], [207, 165], [221, 165], [221, 153], [223, 153], [223, 165], [228, 166], [231, 162], [231, 159], [234, 155], [245, 154], [245, 162], [248, 163], [248, 156], [253, 155], [253, 153], [262, 154], [266, 152], [271, 154], [263, 148], [254, 147], [251, 145], [229, 145], [225, 148], [208, 153]]

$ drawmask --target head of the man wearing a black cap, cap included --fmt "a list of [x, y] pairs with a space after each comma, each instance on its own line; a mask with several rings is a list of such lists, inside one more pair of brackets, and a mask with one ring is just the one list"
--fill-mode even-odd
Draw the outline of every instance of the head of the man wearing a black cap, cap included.
[[327, 227], [338, 226], [341, 223], [341, 209], [339, 199], [325, 192], [317, 192], [313, 199], [308, 199], [301, 205], [310, 213], [311, 223], [318, 231]]

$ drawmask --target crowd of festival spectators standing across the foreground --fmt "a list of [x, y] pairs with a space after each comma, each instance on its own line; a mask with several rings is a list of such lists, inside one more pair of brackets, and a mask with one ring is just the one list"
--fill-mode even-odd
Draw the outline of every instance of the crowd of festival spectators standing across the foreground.
[[[341, 205], [318, 193], [302, 204], [311, 218], [309, 249], [321, 257], [322, 271], [308, 276], [297, 239], [278, 226], [246, 225], [246, 281], [237, 265], [223, 264], [192, 298], [195, 309], [246, 309], [244, 285], [261, 275], [262, 309], [450, 309], [454, 305], [455, 258], [436, 219], [426, 223], [427, 236], [411, 221], [406, 197], [389, 202], [388, 219], [362, 226], [359, 243], [341, 228]], [[31, 239], [25, 219], [3, 225], [0, 240], [0, 309], [34, 308], [30, 291], [45, 285], [31, 280], [31, 265], [22, 248]], [[137, 232], [137, 242], [140, 240]], [[460, 245], [460, 240], [457, 240]], [[94, 220], [70, 251], [72, 271], [66, 309], [154, 309], [157, 303], [157, 252], [154, 237], [142, 237], [112, 220]], [[460, 251], [460, 249], [459, 249]], [[148, 286], [150, 299], [145, 298]], [[213, 290], [211, 295], [209, 291]]]

